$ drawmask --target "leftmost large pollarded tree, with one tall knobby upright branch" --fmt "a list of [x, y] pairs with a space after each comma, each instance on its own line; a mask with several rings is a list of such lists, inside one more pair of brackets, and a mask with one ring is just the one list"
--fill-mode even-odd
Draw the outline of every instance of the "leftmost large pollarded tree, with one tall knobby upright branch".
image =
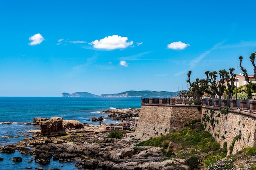
[[203, 96], [205, 89], [208, 88], [208, 81], [204, 79], [196, 78], [194, 82], [191, 83], [190, 81], [190, 75], [191, 71], [188, 73], [188, 79], [187, 83], [189, 83], [191, 87], [191, 91], [195, 93], [195, 104], [200, 104], [201, 103], [201, 97]]

